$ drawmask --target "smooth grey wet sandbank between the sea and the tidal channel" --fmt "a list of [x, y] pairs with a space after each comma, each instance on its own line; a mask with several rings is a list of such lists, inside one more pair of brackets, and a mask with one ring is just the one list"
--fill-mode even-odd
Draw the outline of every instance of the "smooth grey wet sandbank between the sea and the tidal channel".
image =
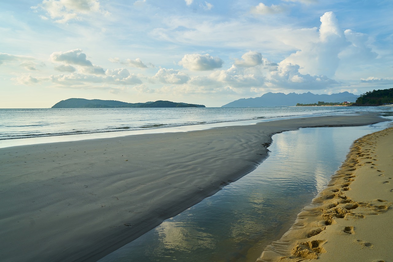
[[252, 171], [275, 133], [381, 121], [323, 116], [1, 148], [0, 260], [96, 261]]

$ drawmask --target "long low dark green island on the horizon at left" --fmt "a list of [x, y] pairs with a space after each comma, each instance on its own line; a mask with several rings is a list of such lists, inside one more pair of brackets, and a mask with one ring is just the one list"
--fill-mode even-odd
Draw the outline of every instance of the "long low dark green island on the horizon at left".
[[117, 107], [205, 107], [204, 105], [195, 105], [188, 103], [176, 103], [171, 101], [158, 100], [155, 102], [146, 103], [126, 103], [116, 100], [99, 100], [99, 99], [84, 99], [84, 98], [70, 98], [61, 100], [53, 105], [52, 108], [117, 108]]

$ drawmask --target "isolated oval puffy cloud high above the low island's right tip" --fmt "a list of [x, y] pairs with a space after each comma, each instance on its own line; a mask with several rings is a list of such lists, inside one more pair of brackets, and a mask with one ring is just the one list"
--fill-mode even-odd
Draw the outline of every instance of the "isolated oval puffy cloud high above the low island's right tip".
[[209, 54], [191, 54], [184, 55], [179, 65], [192, 71], [206, 71], [222, 67], [222, 61], [219, 57], [212, 57]]

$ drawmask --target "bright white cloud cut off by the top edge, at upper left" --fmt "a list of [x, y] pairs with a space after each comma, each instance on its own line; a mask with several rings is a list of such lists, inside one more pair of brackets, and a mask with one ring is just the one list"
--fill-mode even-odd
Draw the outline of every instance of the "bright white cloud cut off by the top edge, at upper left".
[[81, 15], [91, 13], [108, 15], [108, 12], [101, 8], [98, 0], [43, 0], [37, 6], [32, 6], [31, 9], [46, 11], [50, 18], [57, 23], [65, 23], [72, 19], [81, 20]]

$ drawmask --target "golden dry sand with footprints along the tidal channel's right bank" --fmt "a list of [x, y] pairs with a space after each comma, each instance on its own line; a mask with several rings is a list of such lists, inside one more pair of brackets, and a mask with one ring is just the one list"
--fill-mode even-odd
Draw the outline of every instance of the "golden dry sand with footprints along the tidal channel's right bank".
[[356, 140], [331, 182], [258, 262], [393, 261], [393, 127]]

